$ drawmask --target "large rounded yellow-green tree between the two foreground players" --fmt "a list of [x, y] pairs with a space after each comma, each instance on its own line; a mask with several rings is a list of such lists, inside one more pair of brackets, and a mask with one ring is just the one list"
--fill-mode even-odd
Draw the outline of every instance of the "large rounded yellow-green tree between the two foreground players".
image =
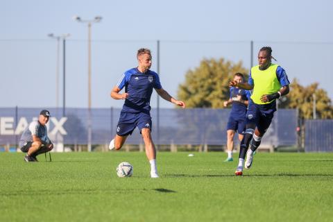
[[228, 83], [237, 72], [248, 74], [242, 62], [204, 59], [199, 67], [187, 71], [185, 83], [178, 87], [178, 98], [188, 108], [223, 108], [223, 101], [229, 99]]

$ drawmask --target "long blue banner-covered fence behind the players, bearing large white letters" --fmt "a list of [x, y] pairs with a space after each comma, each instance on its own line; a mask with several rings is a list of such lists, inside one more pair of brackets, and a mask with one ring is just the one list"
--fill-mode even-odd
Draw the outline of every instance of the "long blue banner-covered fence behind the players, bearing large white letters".
[[[66, 117], [62, 110], [49, 108], [49, 137], [63, 144], [87, 144], [86, 108], [67, 108]], [[92, 109], [92, 144], [108, 144], [116, 133], [120, 108]], [[18, 144], [28, 123], [37, 118], [37, 108], [0, 108], [0, 144]], [[225, 128], [230, 109], [157, 109], [151, 110], [153, 121], [152, 137], [155, 144], [226, 144]], [[263, 138], [263, 146], [292, 146], [297, 144], [298, 113], [296, 110], [278, 110]], [[237, 140], [237, 139], [235, 139]], [[127, 144], [142, 144], [139, 130], [127, 139]]]

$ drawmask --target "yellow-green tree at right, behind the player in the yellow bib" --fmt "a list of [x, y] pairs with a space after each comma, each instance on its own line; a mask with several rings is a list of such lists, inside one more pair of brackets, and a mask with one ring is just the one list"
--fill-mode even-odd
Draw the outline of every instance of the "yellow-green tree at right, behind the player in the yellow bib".
[[296, 78], [289, 85], [290, 92], [280, 99], [280, 108], [297, 108], [303, 119], [313, 118], [314, 95], [316, 97], [317, 119], [333, 119], [332, 101], [324, 89], [318, 88], [318, 83], [303, 87]]

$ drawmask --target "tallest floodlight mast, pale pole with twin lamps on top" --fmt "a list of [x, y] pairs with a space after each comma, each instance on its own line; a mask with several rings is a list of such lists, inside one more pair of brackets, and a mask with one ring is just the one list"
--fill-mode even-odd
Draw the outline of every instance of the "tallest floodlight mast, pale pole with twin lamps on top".
[[94, 19], [81, 19], [78, 15], [74, 15], [76, 22], [85, 23], [88, 26], [88, 151], [92, 151], [92, 24], [101, 22], [102, 17], [96, 16]]

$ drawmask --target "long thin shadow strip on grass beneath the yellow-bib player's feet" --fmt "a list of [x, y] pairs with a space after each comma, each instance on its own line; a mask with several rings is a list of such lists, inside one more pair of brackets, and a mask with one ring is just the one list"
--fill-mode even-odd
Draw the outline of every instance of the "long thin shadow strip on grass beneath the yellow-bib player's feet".
[[[333, 176], [327, 173], [275, 173], [275, 174], [250, 174], [243, 175], [243, 177], [317, 177], [317, 176]], [[219, 177], [236, 177], [234, 174], [221, 174], [221, 175], [194, 175], [194, 174], [167, 174], [167, 178], [219, 178]], [[238, 176], [239, 177], [239, 176]], [[242, 177], [242, 176], [240, 176]]]

